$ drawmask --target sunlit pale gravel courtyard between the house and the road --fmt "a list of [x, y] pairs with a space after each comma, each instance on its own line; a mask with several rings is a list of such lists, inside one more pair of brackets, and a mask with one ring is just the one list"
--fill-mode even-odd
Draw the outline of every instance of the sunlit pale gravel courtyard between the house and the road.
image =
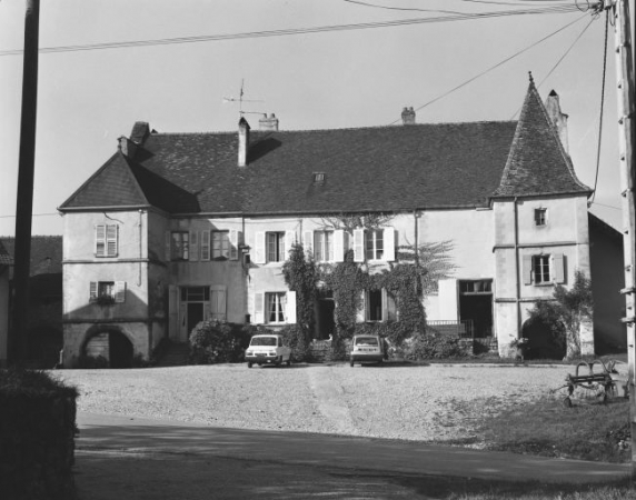
[[[618, 366], [620, 371], [626, 366]], [[66, 370], [78, 410], [215, 427], [444, 441], [476, 419], [563, 384], [574, 367], [218, 364]]]

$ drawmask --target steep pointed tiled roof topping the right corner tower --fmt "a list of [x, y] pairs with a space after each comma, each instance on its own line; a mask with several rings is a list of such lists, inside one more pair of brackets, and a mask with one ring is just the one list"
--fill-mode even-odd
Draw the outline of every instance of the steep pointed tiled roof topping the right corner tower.
[[501, 183], [495, 196], [589, 193], [574, 173], [569, 156], [530, 80]]

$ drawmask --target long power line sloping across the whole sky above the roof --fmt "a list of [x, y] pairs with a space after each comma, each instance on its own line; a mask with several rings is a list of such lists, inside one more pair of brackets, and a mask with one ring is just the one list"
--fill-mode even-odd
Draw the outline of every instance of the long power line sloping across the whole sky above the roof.
[[[416, 19], [400, 19], [396, 21], [379, 21], [379, 22], [364, 22], [355, 24], [335, 24], [335, 26], [322, 26], [315, 28], [290, 28], [282, 30], [270, 30], [270, 31], [249, 31], [244, 33], [229, 33], [229, 34], [205, 34], [198, 37], [179, 37], [179, 38], [163, 38], [155, 40], [137, 40], [137, 41], [125, 41], [125, 42], [105, 42], [105, 43], [91, 43], [85, 46], [62, 46], [62, 47], [44, 47], [40, 49], [40, 53], [57, 53], [57, 52], [78, 52], [86, 50], [105, 50], [105, 49], [123, 49], [130, 47], [153, 47], [153, 46], [167, 46], [177, 43], [197, 43], [207, 41], [225, 41], [225, 40], [241, 40], [241, 39], [254, 39], [254, 38], [269, 38], [269, 37], [286, 37], [292, 34], [308, 34], [308, 33], [322, 33], [331, 31], [351, 31], [351, 30], [364, 30], [374, 28], [392, 28], [401, 26], [414, 26], [414, 24], [428, 24], [437, 22], [450, 22], [450, 21], [467, 21], [477, 19], [488, 19], [488, 18], [499, 18], [508, 16], [536, 16], [536, 14], [554, 14], [554, 13], [572, 13], [576, 12], [578, 9], [575, 6], [563, 6], [563, 7], [548, 7], [538, 9], [526, 9], [526, 10], [501, 10], [494, 12], [480, 12], [480, 13], [461, 13], [454, 16], [441, 16], [431, 18], [416, 18]], [[21, 54], [22, 50], [2, 50], [0, 51], [0, 57], [4, 56], [18, 56]]]

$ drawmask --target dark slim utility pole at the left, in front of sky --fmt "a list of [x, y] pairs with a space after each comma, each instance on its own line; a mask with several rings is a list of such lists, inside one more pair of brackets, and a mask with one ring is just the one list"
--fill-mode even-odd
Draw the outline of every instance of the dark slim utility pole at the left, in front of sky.
[[22, 119], [16, 208], [12, 324], [9, 337], [9, 363], [27, 357], [29, 308], [29, 267], [31, 261], [31, 217], [33, 214], [33, 174], [36, 170], [36, 121], [38, 109], [38, 38], [40, 0], [27, 0], [24, 17], [24, 66], [22, 69]]

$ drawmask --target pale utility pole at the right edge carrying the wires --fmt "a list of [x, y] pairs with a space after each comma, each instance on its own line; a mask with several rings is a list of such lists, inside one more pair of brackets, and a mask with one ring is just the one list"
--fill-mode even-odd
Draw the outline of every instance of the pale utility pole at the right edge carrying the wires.
[[634, 120], [634, 52], [629, 26], [629, 0], [610, 0], [606, 7], [614, 18], [616, 42], [616, 86], [618, 98], [618, 156], [620, 169], [620, 194], [623, 209], [623, 249], [625, 252], [625, 317], [627, 327], [627, 353], [629, 361], [629, 427], [632, 431], [632, 479], [636, 479], [636, 127]]

